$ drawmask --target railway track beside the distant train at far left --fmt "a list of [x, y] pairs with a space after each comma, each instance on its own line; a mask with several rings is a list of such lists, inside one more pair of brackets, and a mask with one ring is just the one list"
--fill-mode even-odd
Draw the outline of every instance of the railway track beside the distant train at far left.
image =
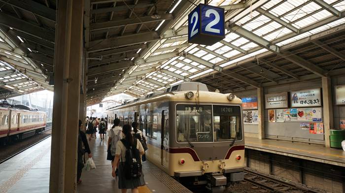
[[[45, 133], [47, 131], [51, 132], [51, 127], [50, 128], [46, 128], [41, 133]], [[38, 136], [38, 135], [34, 135], [34, 136], [30, 137], [30, 138], [28, 138], [28, 140], [30, 140], [31, 138], [34, 138], [35, 136]], [[21, 141], [21, 142], [17, 142], [15, 144], [13, 144], [12, 146], [2, 146], [0, 148], [0, 151], [2, 153], [4, 153], [4, 155], [3, 155], [3, 157], [0, 157], [0, 164], [5, 162], [5, 161], [7, 161], [7, 160], [9, 160], [9, 159], [11, 159], [11, 158], [13, 158], [16, 155], [22, 153], [23, 151], [31, 148], [32, 146], [36, 145], [37, 143], [45, 140], [46, 138], [48, 138], [50, 136], [51, 136], [51, 134], [45, 135], [45, 136], [43, 136], [43, 138], [35, 139], [34, 141], [30, 141], [29, 145], [28, 145], [28, 143], [24, 143], [26, 141]], [[6, 152], [4, 152], [2, 150], [2, 148], [10, 148], [10, 150], [6, 150]]]

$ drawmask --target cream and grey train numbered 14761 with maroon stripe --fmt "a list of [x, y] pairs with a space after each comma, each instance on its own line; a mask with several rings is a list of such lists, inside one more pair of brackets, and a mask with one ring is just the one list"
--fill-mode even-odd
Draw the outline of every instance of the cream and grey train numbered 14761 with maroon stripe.
[[180, 182], [211, 191], [243, 180], [242, 100], [234, 94], [184, 82], [110, 107], [107, 116], [138, 122], [146, 159]]

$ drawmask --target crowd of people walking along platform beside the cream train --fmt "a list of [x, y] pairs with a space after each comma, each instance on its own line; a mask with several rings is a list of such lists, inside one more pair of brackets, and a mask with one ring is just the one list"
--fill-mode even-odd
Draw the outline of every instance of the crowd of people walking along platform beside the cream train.
[[137, 122], [133, 122], [132, 125], [123, 125], [123, 127], [120, 127], [120, 123], [120, 120], [116, 118], [113, 120], [112, 127], [108, 129], [106, 117], [102, 119], [86, 117], [85, 133], [82, 130], [82, 121], [79, 120], [77, 184], [81, 183], [85, 153], [88, 153], [88, 158], [92, 159], [88, 140], [97, 138], [98, 129], [101, 141], [108, 133], [106, 159], [111, 161], [111, 175], [118, 178], [118, 188], [121, 189], [121, 192], [126, 193], [128, 189], [131, 189], [132, 193], [138, 193], [138, 187], [145, 185], [141, 162], [146, 161], [146, 139], [142, 131], [138, 129]]

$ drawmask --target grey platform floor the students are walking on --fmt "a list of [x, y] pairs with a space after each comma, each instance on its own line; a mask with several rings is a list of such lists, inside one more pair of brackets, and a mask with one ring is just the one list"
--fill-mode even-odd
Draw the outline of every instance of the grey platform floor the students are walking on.
[[[96, 169], [83, 170], [79, 193], [120, 193], [117, 178], [111, 177], [111, 163], [106, 161], [107, 141], [93, 138], [90, 148]], [[51, 137], [0, 164], [0, 193], [48, 193]], [[146, 186], [139, 193], [191, 193], [154, 164], [145, 161]], [[130, 193], [130, 191], [128, 191]]]

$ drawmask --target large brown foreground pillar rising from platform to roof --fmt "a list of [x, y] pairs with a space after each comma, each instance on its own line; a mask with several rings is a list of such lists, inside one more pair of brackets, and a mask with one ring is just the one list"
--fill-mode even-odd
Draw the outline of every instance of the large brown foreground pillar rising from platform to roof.
[[76, 192], [83, 7], [83, 0], [58, 1], [50, 193]]

